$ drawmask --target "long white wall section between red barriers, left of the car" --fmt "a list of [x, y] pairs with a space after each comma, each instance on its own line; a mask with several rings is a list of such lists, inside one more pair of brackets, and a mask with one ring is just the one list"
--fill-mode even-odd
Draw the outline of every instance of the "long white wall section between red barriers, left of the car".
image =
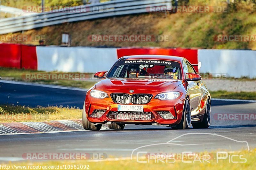
[[37, 69], [44, 71], [108, 71], [117, 60], [116, 48], [36, 47]]

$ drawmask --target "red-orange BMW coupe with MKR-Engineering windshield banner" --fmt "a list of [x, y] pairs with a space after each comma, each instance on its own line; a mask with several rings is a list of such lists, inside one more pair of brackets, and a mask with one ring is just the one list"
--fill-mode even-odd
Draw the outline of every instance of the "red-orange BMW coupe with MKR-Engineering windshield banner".
[[125, 124], [172, 129], [208, 128], [211, 96], [201, 76], [183, 57], [132, 55], [116, 61], [85, 96], [83, 127], [121, 130]]

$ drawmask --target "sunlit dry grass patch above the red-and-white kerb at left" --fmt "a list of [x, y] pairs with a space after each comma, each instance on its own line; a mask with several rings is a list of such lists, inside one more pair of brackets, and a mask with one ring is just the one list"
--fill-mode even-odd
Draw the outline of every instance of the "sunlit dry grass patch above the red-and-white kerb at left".
[[25, 107], [0, 105], [0, 122], [46, 122], [81, 119], [82, 109], [76, 107]]

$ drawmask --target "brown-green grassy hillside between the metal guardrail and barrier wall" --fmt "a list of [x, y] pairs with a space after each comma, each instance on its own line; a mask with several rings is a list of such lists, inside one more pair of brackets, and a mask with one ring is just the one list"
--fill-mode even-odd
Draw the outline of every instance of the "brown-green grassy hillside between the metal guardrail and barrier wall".
[[[217, 35], [256, 35], [255, 4], [236, 4], [223, 13], [149, 13], [104, 18], [24, 31], [45, 35], [46, 45], [60, 45], [61, 33], [69, 33], [71, 46], [157, 46], [183, 48], [254, 49], [256, 41], [220, 42]], [[13, 33], [15, 35], [21, 33]], [[92, 35], [167, 35], [168, 41], [90, 41]], [[90, 38], [89, 38], [90, 39]], [[38, 45], [38, 41], [24, 44]]]

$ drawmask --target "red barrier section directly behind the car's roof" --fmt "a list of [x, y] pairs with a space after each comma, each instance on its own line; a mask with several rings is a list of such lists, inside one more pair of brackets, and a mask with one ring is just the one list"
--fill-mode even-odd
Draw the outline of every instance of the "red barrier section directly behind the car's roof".
[[[184, 49], [184, 48], [118, 48], [117, 57], [125, 55], [174, 55], [188, 59], [191, 64], [198, 64], [197, 49]], [[197, 66], [194, 66], [198, 71]]]

